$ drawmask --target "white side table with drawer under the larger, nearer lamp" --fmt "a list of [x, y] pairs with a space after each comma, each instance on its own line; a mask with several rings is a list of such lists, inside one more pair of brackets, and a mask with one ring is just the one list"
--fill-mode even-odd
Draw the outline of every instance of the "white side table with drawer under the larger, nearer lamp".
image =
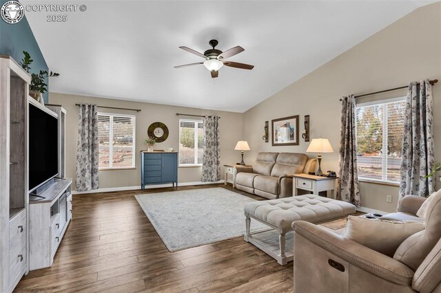
[[331, 191], [331, 198], [336, 199], [337, 177], [323, 177], [309, 174], [292, 174], [292, 195], [298, 195], [297, 190], [312, 191], [318, 195], [320, 191]]

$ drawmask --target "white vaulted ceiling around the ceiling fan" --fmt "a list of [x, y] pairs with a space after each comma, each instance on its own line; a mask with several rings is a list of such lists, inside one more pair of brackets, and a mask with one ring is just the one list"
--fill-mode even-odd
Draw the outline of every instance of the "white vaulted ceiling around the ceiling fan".
[[[63, 1], [21, 1], [23, 4]], [[69, 1], [70, 3], [71, 1]], [[50, 91], [243, 112], [433, 1], [74, 1], [85, 12], [48, 23], [26, 12], [50, 70]], [[66, 3], [66, 2], [64, 2]], [[52, 13], [53, 14], [53, 13]], [[245, 48], [211, 78], [198, 52]]]

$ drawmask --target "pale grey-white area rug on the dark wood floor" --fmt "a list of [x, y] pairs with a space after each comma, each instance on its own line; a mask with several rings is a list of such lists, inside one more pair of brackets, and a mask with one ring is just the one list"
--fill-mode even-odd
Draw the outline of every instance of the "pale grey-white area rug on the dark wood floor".
[[[255, 202], [220, 187], [135, 197], [171, 252], [244, 235], [243, 207]], [[252, 221], [252, 232], [268, 228]]]

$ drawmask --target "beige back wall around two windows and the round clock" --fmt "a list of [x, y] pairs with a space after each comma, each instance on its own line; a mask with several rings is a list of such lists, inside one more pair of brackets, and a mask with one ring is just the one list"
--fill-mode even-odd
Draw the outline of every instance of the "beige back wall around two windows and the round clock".
[[[103, 170], [99, 172], [99, 187], [125, 187], [140, 186], [141, 169], [139, 151], [147, 149], [144, 138], [147, 136], [147, 128], [152, 122], [160, 121], [167, 125], [169, 137], [165, 142], [155, 144], [155, 149], [165, 149], [173, 147], [178, 149], [179, 118], [191, 118], [176, 116], [176, 113], [189, 113], [195, 115], [218, 115], [220, 116], [220, 163], [231, 164], [237, 162], [240, 153], [234, 151], [234, 146], [238, 140], [242, 140], [242, 113], [232, 113], [226, 111], [211, 111], [205, 109], [194, 109], [186, 107], [174, 107], [166, 105], [148, 104], [144, 102], [130, 102], [124, 100], [112, 100], [106, 98], [90, 98], [86, 96], [73, 96], [67, 94], [49, 95], [50, 104], [63, 105], [68, 112], [66, 119], [66, 175], [75, 178], [76, 162], [76, 133], [78, 131], [78, 107], [76, 103], [90, 103], [109, 107], [122, 107], [141, 109], [141, 112], [123, 111], [113, 109], [100, 109], [108, 113], [128, 113], [136, 115], [136, 169], [130, 170]], [[178, 182], [200, 182], [201, 167], [188, 167], [178, 169]], [[223, 166], [221, 168], [223, 179]]]

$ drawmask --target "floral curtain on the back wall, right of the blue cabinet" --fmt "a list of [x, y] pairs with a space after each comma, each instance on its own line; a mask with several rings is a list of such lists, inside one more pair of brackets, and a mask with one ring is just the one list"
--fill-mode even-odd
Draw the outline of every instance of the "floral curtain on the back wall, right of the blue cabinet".
[[219, 118], [205, 116], [204, 144], [202, 158], [202, 181], [215, 182], [220, 179], [220, 148], [219, 148]]

